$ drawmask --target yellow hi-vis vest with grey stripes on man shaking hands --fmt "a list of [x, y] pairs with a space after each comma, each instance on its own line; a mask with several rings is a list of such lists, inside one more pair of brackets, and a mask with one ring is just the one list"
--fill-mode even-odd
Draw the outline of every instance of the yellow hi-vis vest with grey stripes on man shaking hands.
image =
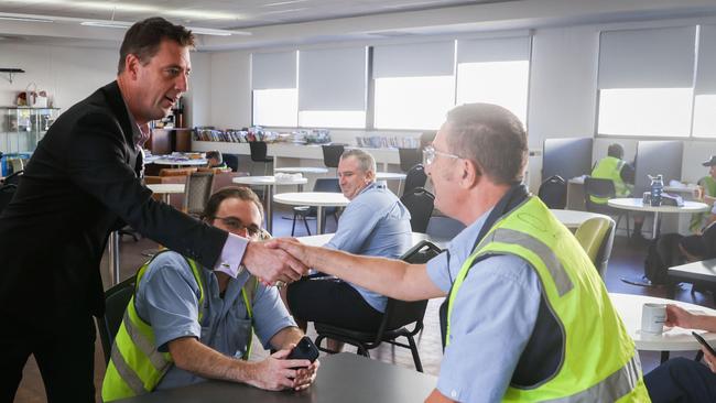
[[564, 329], [564, 348], [554, 373], [534, 385], [510, 385], [503, 400], [649, 401], [633, 341], [596, 269], [574, 236], [533, 196], [502, 217], [463, 263], [448, 295], [448, 348], [460, 286], [476, 259], [495, 254], [513, 254], [530, 263], [539, 274], [545, 303]]

